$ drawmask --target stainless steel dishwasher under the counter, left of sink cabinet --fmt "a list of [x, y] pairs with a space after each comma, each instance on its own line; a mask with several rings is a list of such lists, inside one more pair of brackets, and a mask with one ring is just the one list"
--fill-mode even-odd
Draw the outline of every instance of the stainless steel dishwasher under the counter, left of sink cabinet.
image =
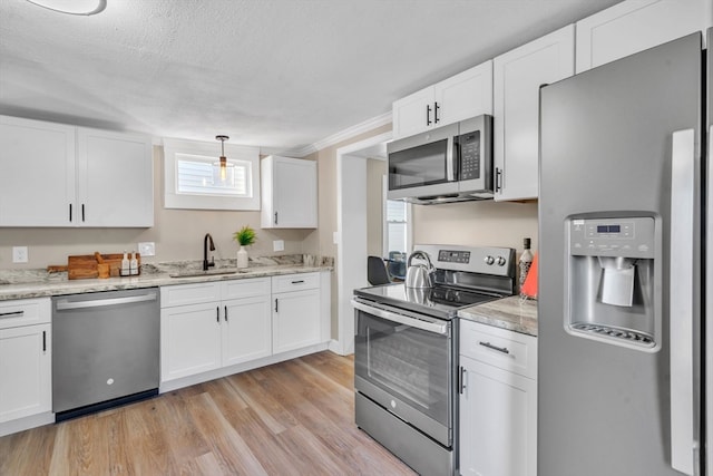
[[158, 394], [158, 289], [52, 298], [57, 421]]

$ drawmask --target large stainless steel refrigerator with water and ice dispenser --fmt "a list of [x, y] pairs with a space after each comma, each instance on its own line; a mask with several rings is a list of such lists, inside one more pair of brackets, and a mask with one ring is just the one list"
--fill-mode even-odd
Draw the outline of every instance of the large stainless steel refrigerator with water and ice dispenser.
[[713, 474], [702, 48], [692, 35], [540, 91], [540, 476]]

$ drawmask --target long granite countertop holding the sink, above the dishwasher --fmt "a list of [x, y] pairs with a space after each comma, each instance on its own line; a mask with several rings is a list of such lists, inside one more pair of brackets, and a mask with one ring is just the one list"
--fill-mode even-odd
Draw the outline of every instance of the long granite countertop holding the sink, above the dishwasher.
[[[188, 261], [143, 264], [138, 276], [87, 280], [68, 280], [66, 272], [49, 274], [38, 270], [6, 271], [0, 276], [0, 301], [332, 271], [333, 261], [324, 258], [319, 263], [305, 264], [301, 259], [258, 259], [251, 261], [248, 268], [237, 270], [235, 260], [222, 260], [206, 273], [201, 272], [201, 266], [202, 262]], [[186, 273], [197, 275], [184, 275]]]

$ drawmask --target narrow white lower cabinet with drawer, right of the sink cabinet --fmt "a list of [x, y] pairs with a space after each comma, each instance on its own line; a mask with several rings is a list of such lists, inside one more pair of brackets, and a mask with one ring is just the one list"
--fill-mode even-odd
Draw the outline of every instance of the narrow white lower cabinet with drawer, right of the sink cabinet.
[[273, 351], [321, 341], [320, 274], [273, 276]]

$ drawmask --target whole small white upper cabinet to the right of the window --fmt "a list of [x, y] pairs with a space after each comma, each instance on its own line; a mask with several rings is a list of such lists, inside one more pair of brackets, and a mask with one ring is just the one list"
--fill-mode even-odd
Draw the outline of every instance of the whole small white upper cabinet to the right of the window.
[[260, 174], [263, 229], [316, 229], [316, 162], [271, 155]]

